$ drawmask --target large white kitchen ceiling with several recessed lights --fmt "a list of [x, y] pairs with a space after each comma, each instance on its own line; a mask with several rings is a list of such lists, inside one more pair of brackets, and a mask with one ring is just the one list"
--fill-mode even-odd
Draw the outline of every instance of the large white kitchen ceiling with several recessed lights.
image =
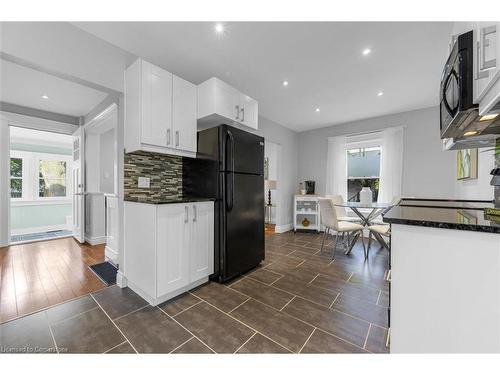
[[[193, 83], [217, 76], [257, 99], [260, 114], [297, 131], [437, 105], [452, 28], [449, 22], [231, 22], [217, 35], [207, 22], [74, 25]], [[372, 53], [363, 56], [365, 48]]]

